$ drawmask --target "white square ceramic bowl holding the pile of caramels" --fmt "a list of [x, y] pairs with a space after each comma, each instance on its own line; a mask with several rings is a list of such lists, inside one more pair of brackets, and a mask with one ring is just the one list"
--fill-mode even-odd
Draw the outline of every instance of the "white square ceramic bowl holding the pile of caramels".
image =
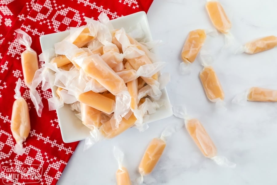
[[[146, 13], [143, 11], [111, 20], [111, 23], [115, 29], [120, 29], [123, 27], [126, 31], [130, 27], [135, 26], [139, 23], [145, 33], [146, 39], [148, 41], [152, 40], [150, 28], [147, 21], [147, 16]], [[69, 31], [62, 31], [59, 33], [42, 35], [40, 37], [42, 52], [46, 51], [47, 49], [54, 48], [54, 43], [62, 41], [67, 35], [69, 35]], [[52, 92], [56, 92], [56, 89], [57, 87], [53, 87]], [[53, 96], [55, 97], [56, 94], [53, 93]], [[161, 99], [166, 100], [165, 106], [159, 108], [156, 113], [151, 114], [149, 117], [149, 121], [147, 121], [147, 123], [158, 121], [166, 117], [170, 117], [172, 115], [171, 104], [166, 89], [162, 90]], [[74, 115], [74, 112], [71, 111], [69, 107], [69, 105], [65, 104], [62, 108], [57, 110], [62, 140], [66, 143], [80, 141], [90, 135], [90, 129], [88, 129], [86, 126], [82, 124], [82, 121], [80, 121]]]

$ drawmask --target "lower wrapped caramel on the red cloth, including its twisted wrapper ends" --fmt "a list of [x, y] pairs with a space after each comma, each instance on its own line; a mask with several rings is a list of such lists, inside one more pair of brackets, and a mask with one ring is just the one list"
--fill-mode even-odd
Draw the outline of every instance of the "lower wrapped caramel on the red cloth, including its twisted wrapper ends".
[[24, 98], [21, 97], [20, 87], [21, 79], [18, 78], [14, 89], [15, 101], [10, 122], [10, 129], [16, 141], [14, 152], [18, 155], [22, 155], [25, 152], [22, 143], [26, 141], [31, 128], [28, 105]]

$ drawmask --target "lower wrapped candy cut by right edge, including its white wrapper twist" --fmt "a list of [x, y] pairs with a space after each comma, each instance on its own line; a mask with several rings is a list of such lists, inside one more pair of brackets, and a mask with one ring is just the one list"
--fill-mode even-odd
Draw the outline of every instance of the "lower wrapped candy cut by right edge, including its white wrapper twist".
[[245, 105], [247, 101], [277, 102], [277, 90], [252, 87], [232, 100], [233, 103], [240, 105]]

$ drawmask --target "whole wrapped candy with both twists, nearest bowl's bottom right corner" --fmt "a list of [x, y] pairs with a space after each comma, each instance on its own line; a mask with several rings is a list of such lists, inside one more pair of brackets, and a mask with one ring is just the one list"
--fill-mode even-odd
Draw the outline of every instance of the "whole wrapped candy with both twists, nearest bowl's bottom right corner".
[[236, 164], [230, 162], [226, 157], [217, 155], [217, 148], [203, 125], [198, 119], [189, 117], [185, 107], [174, 106], [173, 115], [184, 119], [184, 124], [188, 133], [205, 157], [214, 160], [219, 166], [236, 167]]

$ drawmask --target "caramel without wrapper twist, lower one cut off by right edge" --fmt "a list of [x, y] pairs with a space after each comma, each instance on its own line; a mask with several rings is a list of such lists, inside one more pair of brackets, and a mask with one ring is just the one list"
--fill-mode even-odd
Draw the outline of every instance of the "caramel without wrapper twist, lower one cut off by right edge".
[[248, 101], [277, 101], [277, 91], [259, 87], [252, 87], [247, 96]]

